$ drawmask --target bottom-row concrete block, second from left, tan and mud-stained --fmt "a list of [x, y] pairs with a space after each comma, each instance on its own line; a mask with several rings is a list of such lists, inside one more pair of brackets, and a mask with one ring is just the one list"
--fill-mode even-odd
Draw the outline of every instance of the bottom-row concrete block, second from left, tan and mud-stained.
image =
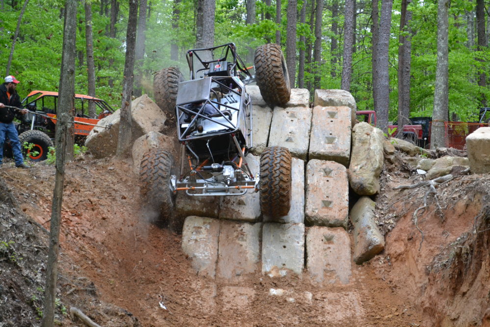
[[222, 221], [216, 276], [239, 282], [258, 270], [262, 224]]

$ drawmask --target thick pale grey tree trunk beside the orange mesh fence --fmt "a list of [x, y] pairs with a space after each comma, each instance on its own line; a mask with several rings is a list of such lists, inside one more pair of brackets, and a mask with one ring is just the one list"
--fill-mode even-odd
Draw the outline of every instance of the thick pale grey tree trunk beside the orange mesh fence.
[[448, 118], [448, 0], [438, 1], [437, 67], [432, 117], [431, 149], [445, 147], [444, 121]]

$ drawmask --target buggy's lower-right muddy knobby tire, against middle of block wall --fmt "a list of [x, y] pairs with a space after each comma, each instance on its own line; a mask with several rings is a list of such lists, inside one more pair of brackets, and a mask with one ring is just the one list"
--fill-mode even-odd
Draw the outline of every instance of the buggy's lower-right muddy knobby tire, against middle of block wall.
[[284, 217], [291, 207], [291, 154], [270, 146], [260, 156], [260, 207], [263, 215]]

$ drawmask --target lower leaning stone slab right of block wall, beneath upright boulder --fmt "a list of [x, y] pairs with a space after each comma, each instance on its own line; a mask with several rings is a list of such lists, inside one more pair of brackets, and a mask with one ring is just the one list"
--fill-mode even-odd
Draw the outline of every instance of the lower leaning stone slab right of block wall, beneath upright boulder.
[[375, 221], [376, 203], [362, 196], [352, 207], [350, 218], [354, 226], [354, 262], [360, 265], [385, 249], [385, 238]]

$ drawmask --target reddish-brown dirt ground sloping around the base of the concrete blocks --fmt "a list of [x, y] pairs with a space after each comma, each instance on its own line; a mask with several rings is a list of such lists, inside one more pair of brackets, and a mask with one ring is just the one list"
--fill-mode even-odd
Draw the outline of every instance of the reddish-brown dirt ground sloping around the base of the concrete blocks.
[[[54, 168], [37, 164], [19, 170], [4, 164], [0, 177], [22, 211], [48, 229]], [[461, 197], [443, 222], [429, 210], [419, 222], [425, 231], [419, 249], [420, 233], [411, 217], [419, 206], [417, 194], [393, 206], [408, 191], [392, 190], [416, 177], [385, 171], [384, 178], [377, 202], [384, 215], [380, 220], [386, 221], [380, 223], [396, 222], [396, 227], [382, 254], [362, 266], [353, 264], [349, 284], [317, 284], [307, 273], [301, 278], [256, 273], [230, 284], [197, 275], [181, 251], [180, 235], [140, 221], [138, 178], [129, 163], [82, 157], [66, 169], [61, 299], [101, 326], [121, 321], [130, 326], [134, 318], [145, 327], [433, 326], [439, 318], [424, 315], [422, 308], [432, 299], [440, 300], [443, 310], [447, 298], [437, 299], [440, 281], [426, 267], [441, 248], [471, 229], [480, 206]], [[456, 188], [447, 188], [452, 185]], [[458, 193], [446, 195], [451, 199]], [[66, 317], [63, 326], [81, 323]]]

